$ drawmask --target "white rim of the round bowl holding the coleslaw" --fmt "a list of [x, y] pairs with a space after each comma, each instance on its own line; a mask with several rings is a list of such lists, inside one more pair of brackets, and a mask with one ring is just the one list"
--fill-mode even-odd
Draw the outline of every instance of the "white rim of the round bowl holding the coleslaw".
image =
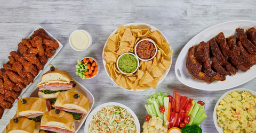
[[134, 118], [134, 123], [136, 125], [136, 129], [137, 129], [137, 133], [140, 133], [140, 122], [136, 116], [136, 114], [130, 109], [128, 108], [126, 105], [121, 104], [121, 103], [116, 103], [116, 102], [108, 102], [108, 103], [104, 103], [99, 105], [98, 107], [96, 107], [88, 116], [87, 120], [85, 121], [85, 125], [84, 125], [84, 132], [87, 133], [88, 132], [88, 127], [89, 127], [89, 123], [92, 120], [93, 114], [97, 113], [98, 111], [100, 111], [102, 108], [106, 107], [107, 105], [115, 105], [115, 106], [119, 106], [122, 107], [124, 109], [126, 109], [127, 111], [130, 112], [131, 116]]

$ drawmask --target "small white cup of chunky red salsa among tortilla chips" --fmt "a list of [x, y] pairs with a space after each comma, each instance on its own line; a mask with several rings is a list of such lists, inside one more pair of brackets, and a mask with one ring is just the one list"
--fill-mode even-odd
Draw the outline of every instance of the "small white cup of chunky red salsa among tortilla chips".
[[137, 42], [134, 53], [135, 55], [143, 61], [149, 61], [156, 56], [157, 48], [156, 43], [152, 39], [142, 39]]

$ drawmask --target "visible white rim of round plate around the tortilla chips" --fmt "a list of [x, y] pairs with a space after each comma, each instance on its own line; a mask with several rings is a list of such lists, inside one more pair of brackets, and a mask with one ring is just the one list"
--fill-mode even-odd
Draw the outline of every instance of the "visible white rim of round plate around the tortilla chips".
[[[135, 28], [141, 28], [141, 29], [149, 28], [151, 32], [154, 32], [154, 31], [157, 30], [154, 26], [149, 25], [149, 24], [146, 24], [146, 23], [129, 23], [129, 24], [125, 24], [124, 26], [127, 28], [129, 25], [132, 25], [132, 26], [135, 27]], [[159, 30], [157, 30], [157, 31], [159, 31]], [[110, 34], [110, 36], [112, 36], [112, 35], [115, 34], [116, 32], [117, 32], [117, 29], [116, 29], [115, 31], [113, 31], [113, 32]], [[161, 34], [162, 38], [163, 38], [165, 41], [167, 41], [167, 42], [169, 43], [169, 41], [165, 38], [164, 34], [163, 34], [161, 31], [159, 31], [159, 33]], [[110, 37], [110, 36], [109, 36], [109, 37]], [[105, 46], [104, 46], [103, 51], [102, 51], [103, 66], [104, 66], [104, 68], [105, 68], [105, 70], [106, 70], [106, 73], [107, 73], [108, 77], [111, 79], [111, 81], [113, 81], [113, 82], [115, 83], [115, 79], [110, 77], [110, 72], [109, 72], [109, 70], [108, 70], [107, 67], [106, 67], [106, 59], [105, 59], [105, 55], [104, 55], [104, 50], [105, 50], [106, 47], [107, 47], [107, 41], [106, 41]], [[171, 49], [171, 46], [170, 46], [170, 49]], [[171, 61], [171, 66], [172, 66], [172, 57], [171, 57], [171, 59], [170, 59], [169, 61]], [[171, 66], [170, 66], [170, 68], [171, 68]], [[165, 70], [165, 71], [163, 72], [163, 75], [162, 75], [162, 77], [159, 78], [159, 81], [158, 81], [157, 84], [160, 84], [160, 83], [164, 80], [164, 78], [165, 78], [166, 75], [168, 74], [170, 68], [167, 69], [167, 70]], [[116, 84], [116, 83], [115, 83], [115, 84]], [[116, 85], [117, 85], [117, 84], [116, 84]], [[119, 86], [119, 85], [117, 85], [117, 86]], [[119, 86], [119, 87], [121, 87], [121, 86]], [[121, 88], [123, 88], [123, 87], [121, 87]], [[150, 87], [149, 87], [149, 88], [150, 88]], [[131, 88], [130, 88], [130, 89], [123, 88], [123, 89], [124, 89], [124, 90], [128, 90], [128, 91], [133, 91]], [[139, 92], [139, 91], [145, 91], [145, 90], [141, 90], [141, 89], [138, 88], [136, 91]]]

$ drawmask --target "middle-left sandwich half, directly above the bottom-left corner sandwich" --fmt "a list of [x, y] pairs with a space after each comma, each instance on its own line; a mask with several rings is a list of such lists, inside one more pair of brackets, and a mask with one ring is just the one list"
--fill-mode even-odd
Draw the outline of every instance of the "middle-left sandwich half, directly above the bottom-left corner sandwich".
[[[23, 103], [21, 102], [23, 101]], [[49, 100], [39, 97], [25, 97], [20, 99], [17, 104], [17, 117], [26, 117], [30, 120], [41, 120], [42, 115], [51, 110]]]

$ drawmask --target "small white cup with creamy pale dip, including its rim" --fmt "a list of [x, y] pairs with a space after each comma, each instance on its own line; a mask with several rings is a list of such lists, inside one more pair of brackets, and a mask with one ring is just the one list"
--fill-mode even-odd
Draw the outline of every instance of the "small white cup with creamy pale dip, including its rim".
[[92, 36], [85, 30], [76, 30], [69, 36], [69, 45], [76, 51], [84, 51], [92, 45]]

